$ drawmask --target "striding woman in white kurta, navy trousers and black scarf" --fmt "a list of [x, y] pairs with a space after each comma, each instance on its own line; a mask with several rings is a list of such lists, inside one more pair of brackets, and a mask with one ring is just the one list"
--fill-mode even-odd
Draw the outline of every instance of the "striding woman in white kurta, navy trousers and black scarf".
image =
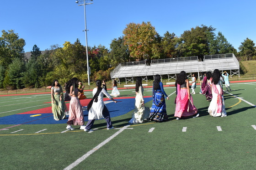
[[85, 131], [91, 131], [95, 119], [105, 118], [107, 122], [107, 129], [113, 129], [113, 125], [110, 119], [109, 111], [103, 102], [103, 95], [105, 94], [107, 98], [111, 99], [115, 103], [117, 101], [113, 99], [104, 88], [101, 88], [101, 80], [96, 81], [96, 88], [93, 89], [93, 98], [87, 105], [88, 110], [88, 123], [86, 124]]

